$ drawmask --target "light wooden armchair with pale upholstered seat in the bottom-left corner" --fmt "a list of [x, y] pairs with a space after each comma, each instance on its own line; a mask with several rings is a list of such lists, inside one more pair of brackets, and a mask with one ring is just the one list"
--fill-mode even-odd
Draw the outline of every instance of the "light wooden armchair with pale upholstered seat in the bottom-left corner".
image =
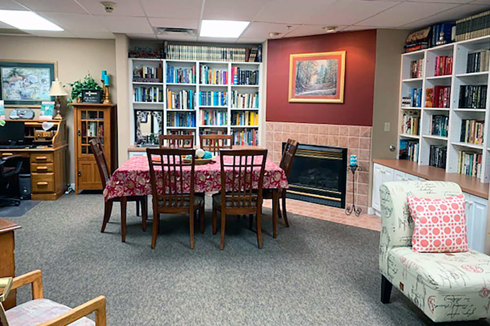
[[[43, 281], [41, 270], [35, 270], [13, 279], [12, 289], [31, 284], [32, 301], [15, 306], [5, 312], [0, 307], [1, 317], [6, 317], [0, 324], [3, 326], [106, 326], [105, 297], [98, 296], [76, 308], [70, 308], [43, 298]], [[95, 312], [95, 323], [87, 315]], [[34, 316], [34, 317], [33, 317]]]

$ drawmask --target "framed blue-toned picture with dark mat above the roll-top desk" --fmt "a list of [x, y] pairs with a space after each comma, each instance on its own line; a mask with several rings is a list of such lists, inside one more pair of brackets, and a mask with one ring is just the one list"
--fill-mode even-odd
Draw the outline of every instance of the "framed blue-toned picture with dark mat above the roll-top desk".
[[6, 106], [40, 106], [54, 101], [49, 96], [51, 82], [57, 77], [57, 64], [0, 60], [0, 100]]

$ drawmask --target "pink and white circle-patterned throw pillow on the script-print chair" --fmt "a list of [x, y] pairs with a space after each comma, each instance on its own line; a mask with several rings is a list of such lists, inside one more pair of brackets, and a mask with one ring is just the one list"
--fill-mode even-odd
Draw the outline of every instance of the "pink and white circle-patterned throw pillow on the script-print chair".
[[407, 197], [414, 219], [412, 249], [418, 252], [468, 251], [465, 196], [442, 199]]

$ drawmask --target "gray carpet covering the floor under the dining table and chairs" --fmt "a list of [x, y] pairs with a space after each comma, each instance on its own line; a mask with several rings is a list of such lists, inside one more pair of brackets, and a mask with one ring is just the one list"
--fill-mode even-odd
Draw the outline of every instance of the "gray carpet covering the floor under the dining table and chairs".
[[[40, 268], [46, 298], [76, 306], [107, 297], [108, 325], [425, 325], [429, 320], [399, 291], [379, 301], [379, 233], [291, 215], [272, 239], [263, 221], [264, 248], [246, 219], [228, 217], [225, 250], [219, 235], [196, 233], [189, 249], [186, 217], [162, 218], [156, 249], [128, 208], [121, 242], [119, 204], [100, 233], [101, 195], [44, 201], [16, 233], [16, 272]], [[270, 210], [265, 210], [270, 214]], [[151, 223], [149, 223], [149, 229]], [[19, 292], [23, 302], [29, 289]], [[489, 325], [475, 322], [470, 325]]]

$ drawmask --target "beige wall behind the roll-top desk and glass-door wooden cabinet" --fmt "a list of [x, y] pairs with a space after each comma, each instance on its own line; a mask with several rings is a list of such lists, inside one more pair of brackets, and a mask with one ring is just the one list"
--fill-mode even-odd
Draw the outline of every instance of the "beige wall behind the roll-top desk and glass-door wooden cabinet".
[[[82, 79], [88, 72], [98, 80], [105, 69], [112, 75], [111, 100], [117, 99], [114, 40], [0, 36], [0, 44], [0, 60], [57, 61], [58, 78], [63, 84]], [[62, 115], [68, 127], [69, 182], [74, 183], [73, 110], [63, 108]]]

